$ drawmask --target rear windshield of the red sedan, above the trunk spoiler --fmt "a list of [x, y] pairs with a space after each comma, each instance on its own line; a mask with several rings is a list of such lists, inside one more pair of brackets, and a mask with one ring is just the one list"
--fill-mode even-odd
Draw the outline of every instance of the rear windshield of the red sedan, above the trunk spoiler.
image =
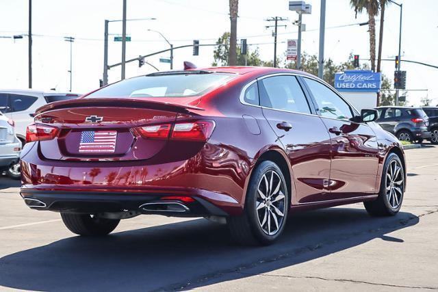
[[232, 79], [229, 73], [146, 75], [101, 88], [86, 97], [184, 97], [201, 95]]

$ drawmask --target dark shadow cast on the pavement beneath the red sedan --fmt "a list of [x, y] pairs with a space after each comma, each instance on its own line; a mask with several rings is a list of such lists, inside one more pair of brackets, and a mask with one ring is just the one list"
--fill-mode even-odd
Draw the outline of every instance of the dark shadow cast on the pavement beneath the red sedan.
[[232, 273], [237, 269], [266, 273], [376, 238], [404, 244], [386, 234], [417, 222], [418, 217], [405, 212], [375, 218], [361, 209], [310, 211], [289, 217], [276, 244], [252, 248], [234, 245], [226, 226], [203, 219], [105, 238], [70, 237], [0, 258], [0, 286], [38, 291], [192, 289], [251, 276]]

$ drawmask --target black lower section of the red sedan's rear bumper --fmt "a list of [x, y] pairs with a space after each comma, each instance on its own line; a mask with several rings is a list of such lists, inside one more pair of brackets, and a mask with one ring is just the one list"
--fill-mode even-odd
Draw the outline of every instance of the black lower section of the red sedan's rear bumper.
[[[170, 194], [166, 194], [168, 196]], [[175, 194], [173, 194], [175, 196]], [[200, 217], [208, 215], [227, 216], [222, 209], [201, 197], [192, 197], [194, 202], [181, 200], [161, 200], [163, 194], [123, 192], [88, 192], [76, 191], [38, 191], [21, 189], [21, 196], [28, 207], [37, 210], [69, 212], [69, 213], [112, 213], [136, 211], [139, 213], [172, 215], [180, 217]], [[163, 209], [161, 211], [144, 208], [144, 204], [178, 204], [179, 211]]]

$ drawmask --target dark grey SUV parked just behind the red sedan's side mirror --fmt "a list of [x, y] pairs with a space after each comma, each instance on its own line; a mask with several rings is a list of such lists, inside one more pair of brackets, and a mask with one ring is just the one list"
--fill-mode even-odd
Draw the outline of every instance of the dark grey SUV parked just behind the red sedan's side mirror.
[[429, 118], [421, 107], [377, 107], [376, 122], [398, 140], [422, 143], [430, 138]]

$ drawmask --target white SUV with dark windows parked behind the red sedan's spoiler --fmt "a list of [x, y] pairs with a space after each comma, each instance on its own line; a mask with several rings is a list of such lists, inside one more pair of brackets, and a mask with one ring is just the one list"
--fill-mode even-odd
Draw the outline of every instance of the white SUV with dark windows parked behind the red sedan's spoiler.
[[34, 121], [38, 107], [53, 101], [77, 98], [79, 94], [41, 92], [36, 90], [0, 90], [0, 111], [15, 122], [15, 131], [21, 142], [26, 140], [26, 127]]

